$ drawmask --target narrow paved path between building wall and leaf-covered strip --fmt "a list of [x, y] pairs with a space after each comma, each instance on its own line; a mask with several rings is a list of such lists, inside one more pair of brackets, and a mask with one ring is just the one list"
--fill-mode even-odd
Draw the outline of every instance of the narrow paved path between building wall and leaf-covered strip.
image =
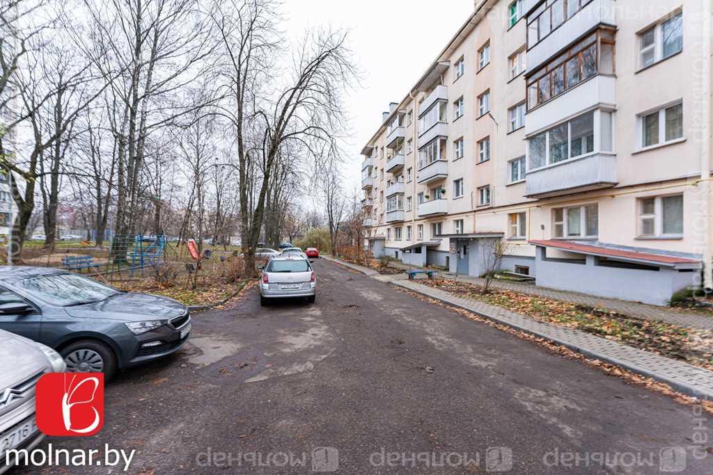
[[[400, 262], [391, 263], [391, 266], [402, 268], [404, 270], [409, 268], [408, 265]], [[455, 278], [458, 282], [475, 283], [477, 285], [483, 285], [483, 283], [485, 283], [483, 278], [460, 275], [456, 278], [455, 274], [448, 272], [442, 272], [441, 276], [443, 278]], [[578, 303], [583, 306], [601, 308], [602, 310], [610, 310], [635, 318], [660, 320], [667, 323], [673, 323], [674, 325], [680, 325], [685, 328], [713, 330], [713, 317], [708, 317], [707, 315], [686, 310], [657, 307], [646, 305], [645, 303], [621, 301], [615, 298], [590, 296], [586, 293], [558, 291], [554, 288], [538, 287], [530, 283], [495, 280], [491, 283], [491, 286], [503, 290], [527, 293], [528, 295], [541, 296], [559, 301]]]

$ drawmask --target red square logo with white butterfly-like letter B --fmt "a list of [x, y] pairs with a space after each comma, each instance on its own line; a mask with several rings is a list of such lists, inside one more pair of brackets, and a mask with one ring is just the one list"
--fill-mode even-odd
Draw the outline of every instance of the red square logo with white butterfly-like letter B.
[[101, 372], [51, 372], [37, 382], [37, 427], [45, 435], [88, 437], [104, 425]]

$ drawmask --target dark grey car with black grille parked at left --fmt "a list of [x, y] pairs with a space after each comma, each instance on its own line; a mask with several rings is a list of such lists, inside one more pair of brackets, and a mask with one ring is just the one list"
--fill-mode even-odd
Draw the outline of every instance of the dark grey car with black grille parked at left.
[[68, 372], [116, 370], [175, 353], [190, 313], [172, 298], [120, 291], [56, 268], [0, 266], [0, 330], [43, 343]]

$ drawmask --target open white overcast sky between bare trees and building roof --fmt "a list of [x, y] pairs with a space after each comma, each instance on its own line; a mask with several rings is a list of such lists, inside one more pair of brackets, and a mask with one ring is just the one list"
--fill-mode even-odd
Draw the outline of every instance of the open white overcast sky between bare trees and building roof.
[[353, 129], [343, 171], [348, 191], [361, 180], [359, 152], [381, 125], [381, 113], [409, 93], [472, 12], [473, 0], [284, 0], [292, 38], [311, 26], [352, 30], [349, 45], [364, 80], [347, 101]]

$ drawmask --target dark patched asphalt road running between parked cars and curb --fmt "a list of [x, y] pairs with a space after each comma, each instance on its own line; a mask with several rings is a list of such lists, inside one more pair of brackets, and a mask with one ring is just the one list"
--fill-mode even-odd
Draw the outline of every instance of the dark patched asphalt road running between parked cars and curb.
[[[314, 305], [261, 308], [252, 289], [195, 314], [185, 350], [108, 385], [100, 434], [49, 442], [135, 449], [128, 473], [143, 474], [713, 473], [713, 454], [697, 459], [713, 446], [705, 413], [332, 263], [314, 268]], [[85, 472], [121, 473], [66, 471]]]

